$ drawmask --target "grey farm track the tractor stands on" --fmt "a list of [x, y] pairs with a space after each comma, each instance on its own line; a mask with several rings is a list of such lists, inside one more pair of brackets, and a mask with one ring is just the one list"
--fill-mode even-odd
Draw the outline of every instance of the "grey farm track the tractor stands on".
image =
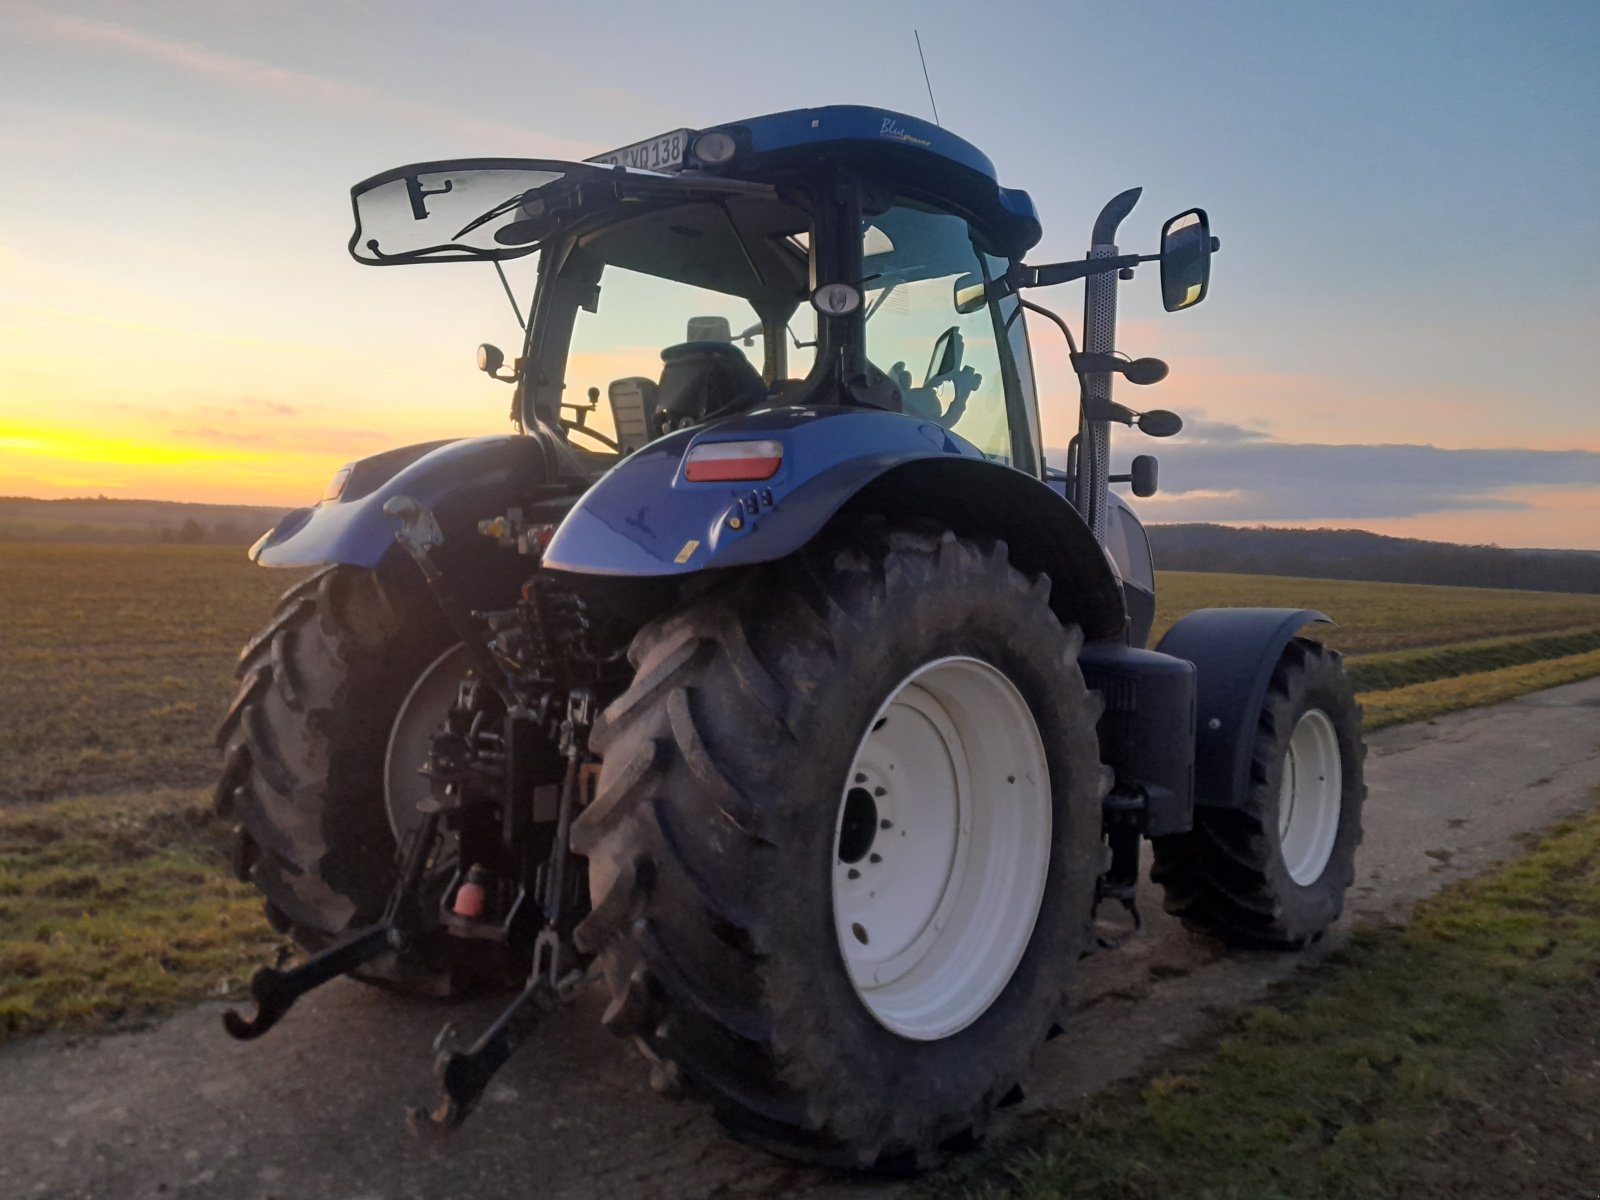
[[[1366, 842], [1352, 907], [1395, 914], [1504, 858], [1518, 837], [1594, 803], [1600, 678], [1370, 739]], [[1059, 1106], [1139, 1070], [1312, 958], [1229, 955], [1176, 928], [1155, 896], [1126, 949], [1085, 965], [1077, 1019], [1027, 1106]], [[598, 1026], [598, 997], [557, 1013], [443, 1150], [402, 1101], [430, 1099], [429, 1043], [493, 1005], [406, 1002], [358, 984], [314, 994], [259, 1043], [219, 1006], [114, 1037], [0, 1050], [5, 1197], [885, 1197], [722, 1138], [650, 1091]]]

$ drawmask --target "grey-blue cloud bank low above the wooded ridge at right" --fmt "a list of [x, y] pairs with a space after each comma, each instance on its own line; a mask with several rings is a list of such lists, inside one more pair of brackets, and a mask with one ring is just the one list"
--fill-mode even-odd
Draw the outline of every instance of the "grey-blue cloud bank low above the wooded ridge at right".
[[[1181, 442], [1139, 446], [1160, 458], [1162, 491], [1138, 507], [1162, 522], [1378, 520], [1534, 507], [1520, 488], [1600, 491], [1600, 453], [1590, 450], [1320, 445], [1237, 429], [1210, 440], [1186, 429]], [[1123, 438], [1117, 462], [1126, 453]]]

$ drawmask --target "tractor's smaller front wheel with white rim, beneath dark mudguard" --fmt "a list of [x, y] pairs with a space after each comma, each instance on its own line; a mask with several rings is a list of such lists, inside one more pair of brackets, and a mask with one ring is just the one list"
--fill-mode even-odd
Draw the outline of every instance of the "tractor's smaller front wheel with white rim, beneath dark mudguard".
[[1152, 838], [1166, 910], [1237, 946], [1317, 941], [1355, 878], [1365, 755], [1342, 659], [1294, 638], [1256, 722], [1243, 806], [1197, 808], [1190, 832]]

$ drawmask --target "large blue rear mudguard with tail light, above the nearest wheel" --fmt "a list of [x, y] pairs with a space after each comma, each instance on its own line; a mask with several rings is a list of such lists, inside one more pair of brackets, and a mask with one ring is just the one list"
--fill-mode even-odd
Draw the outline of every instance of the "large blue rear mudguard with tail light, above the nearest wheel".
[[[683, 461], [696, 445], [750, 440], [782, 443], [771, 478], [685, 478]], [[861, 408], [768, 410], [661, 438], [578, 501], [544, 565], [574, 574], [682, 576], [774, 562], [846, 506], [931, 515], [962, 534], [1003, 538], [1018, 566], [1051, 576], [1051, 603], [1090, 637], [1122, 634], [1122, 590], [1066, 501], [931, 421]]]

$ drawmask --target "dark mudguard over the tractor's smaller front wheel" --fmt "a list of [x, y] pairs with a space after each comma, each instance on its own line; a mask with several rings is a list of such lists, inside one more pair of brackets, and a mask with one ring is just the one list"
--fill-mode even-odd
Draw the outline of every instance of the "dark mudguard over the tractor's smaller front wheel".
[[1200, 608], [1166, 630], [1162, 654], [1195, 664], [1195, 806], [1238, 808], [1250, 787], [1250, 746], [1283, 646], [1314, 621], [1310, 608]]

